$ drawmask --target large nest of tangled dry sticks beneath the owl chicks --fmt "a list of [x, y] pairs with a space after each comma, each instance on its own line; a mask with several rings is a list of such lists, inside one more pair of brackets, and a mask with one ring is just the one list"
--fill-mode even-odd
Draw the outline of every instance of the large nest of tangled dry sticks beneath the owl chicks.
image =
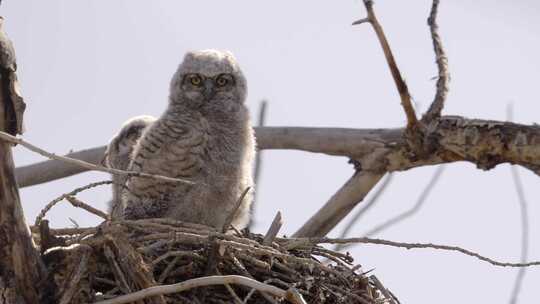
[[[105, 221], [95, 228], [33, 229], [49, 270], [49, 303], [91, 303], [156, 285], [241, 275], [294, 288], [307, 303], [391, 303], [347, 253], [289, 238], [263, 245], [248, 231], [168, 219]], [[381, 290], [382, 289], [382, 290]], [[288, 303], [239, 285], [208, 286], [136, 303]]]

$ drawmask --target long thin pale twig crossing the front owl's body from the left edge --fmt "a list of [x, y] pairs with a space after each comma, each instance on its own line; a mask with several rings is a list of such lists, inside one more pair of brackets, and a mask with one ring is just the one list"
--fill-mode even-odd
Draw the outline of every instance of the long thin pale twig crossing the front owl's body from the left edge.
[[184, 180], [184, 179], [180, 179], [180, 178], [172, 178], [172, 177], [167, 177], [167, 176], [163, 176], [163, 175], [154, 175], [154, 174], [148, 174], [148, 173], [143, 173], [143, 172], [124, 171], [124, 170], [118, 170], [118, 169], [114, 169], [114, 168], [107, 168], [107, 167], [99, 166], [99, 165], [96, 165], [96, 164], [91, 164], [91, 163], [88, 163], [88, 162], [85, 162], [85, 161], [82, 161], [82, 160], [69, 158], [69, 157], [61, 156], [61, 155], [56, 155], [54, 153], [50, 153], [50, 152], [47, 152], [47, 151], [45, 151], [45, 150], [43, 150], [41, 148], [38, 148], [38, 147], [24, 141], [23, 139], [15, 137], [13, 135], [10, 135], [10, 134], [8, 134], [6, 132], [1, 132], [0, 131], [0, 138], [5, 140], [5, 141], [8, 141], [8, 142], [21, 145], [21, 146], [27, 148], [28, 150], [30, 150], [32, 152], [35, 152], [37, 154], [40, 154], [40, 155], [42, 155], [44, 157], [47, 157], [49, 159], [63, 161], [63, 162], [66, 162], [66, 163], [70, 163], [72, 165], [77, 165], [77, 166], [86, 168], [88, 170], [106, 172], [106, 173], [110, 173], [110, 174], [127, 175], [127, 176], [130, 176], [130, 177], [135, 176], [135, 177], [144, 177], [144, 178], [154, 178], [154, 179], [159, 179], [159, 180], [163, 180], [163, 181], [167, 181], [167, 182], [174, 182], [174, 183], [180, 182], [180, 183], [186, 183], [186, 184], [194, 184], [192, 181], [188, 181], [188, 180]]

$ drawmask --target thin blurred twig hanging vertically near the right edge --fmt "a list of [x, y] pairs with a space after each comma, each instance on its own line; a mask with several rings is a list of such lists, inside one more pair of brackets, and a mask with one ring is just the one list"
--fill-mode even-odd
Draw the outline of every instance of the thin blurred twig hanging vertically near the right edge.
[[[516, 167], [510, 167], [512, 171], [512, 179], [514, 180], [514, 185], [516, 187], [516, 193], [518, 195], [519, 201], [519, 210], [521, 215], [521, 257], [520, 261], [527, 261], [529, 255], [529, 215], [527, 212], [527, 199], [525, 198], [525, 192], [523, 191], [523, 183], [519, 176], [519, 172]], [[516, 280], [514, 281], [514, 288], [512, 289], [512, 294], [510, 296], [510, 303], [515, 304], [518, 302], [519, 292], [521, 290], [521, 285], [525, 277], [526, 268], [518, 269], [516, 275]]]

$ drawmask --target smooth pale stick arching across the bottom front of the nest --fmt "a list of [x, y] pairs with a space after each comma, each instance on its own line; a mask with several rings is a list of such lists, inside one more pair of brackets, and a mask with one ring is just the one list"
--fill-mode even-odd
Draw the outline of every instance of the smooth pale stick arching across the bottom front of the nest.
[[[237, 284], [242, 286], [247, 286], [250, 288], [257, 289], [262, 292], [269, 293], [275, 297], [286, 298], [294, 304], [303, 304], [305, 301], [298, 292], [292, 290], [283, 290], [272, 285], [261, 283], [259, 281], [246, 278], [238, 275], [227, 275], [227, 276], [209, 276], [187, 280], [181, 283], [172, 284], [172, 285], [160, 285], [149, 287], [143, 290], [139, 290], [134, 293], [127, 295], [122, 295], [113, 299], [96, 302], [95, 304], [122, 304], [130, 303], [137, 300], [142, 300], [148, 297], [157, 296], [157, 295], [166, 295], [171, 293], [182, 292], [185, 290], [203, 287], [203, 286], [212, 286], [212, 285], [224, 285], [224, 284]], [[294, 295], [294, 296], [293, 296]], [[299, 297], [299, 298], [297, 298]]]

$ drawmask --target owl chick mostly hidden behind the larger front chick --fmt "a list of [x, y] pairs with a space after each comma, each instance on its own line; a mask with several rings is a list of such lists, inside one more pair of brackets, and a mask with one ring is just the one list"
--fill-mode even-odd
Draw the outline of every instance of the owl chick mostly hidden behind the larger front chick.
[[[105, 151], [104, 163], [109, 168], [127, 170], [135, 144], [141, 138], [143, 131], [151, 125], [156, 118], [147, 115], [130, 118], [122, 125], [120, 132], [111, 139]], [[109, 214], [113, 218], [122, 216], [122, 189], [127, 181], [126, 175], [113, 174], [113, 198], [109, 202]]]

